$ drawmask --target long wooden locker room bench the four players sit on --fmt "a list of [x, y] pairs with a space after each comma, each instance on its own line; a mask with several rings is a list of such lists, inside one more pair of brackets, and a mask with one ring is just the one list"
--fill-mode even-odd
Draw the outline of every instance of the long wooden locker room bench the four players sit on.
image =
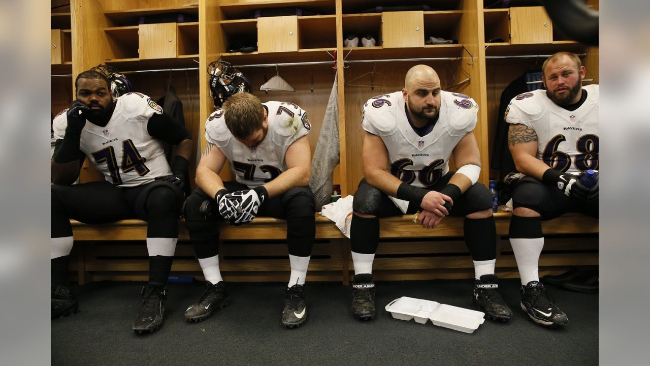
[[[463, 240], [463, 218], [445, 218], [439, 227], [427, 230], [411, 222], [412, 215], [380, 221], [380, 246], [373, 264], [376, 279], [469, 278], [473, 264]], [[511, 214], [495, 214], [497, 223], [497, 273], [518, 277], [517, 266], [507, 240]], [[79, 283], [101, 279], [144, 280], [148, 261], [147, 223], [137, 219], [105, 225], [72, 221]], [[558, 273], [569, 266], [598, 263], [597, 219], [565, 214], [542, 224], [546, 235], [540, 273]], [[255, 218], [252, 223], [233, 227], [220, 224], [220, 267], [227, 281], [286, 281], [289, 258], [285, 243], [286, 221]], [[316, 238], [310, 281], [343, 281], [354, 274], [350, 241], [329, 219], [317, 214]], [[179, 223], [179, 244], [172, 272], [202, 277], [194, 249], [188, 242], [185, 224]]]

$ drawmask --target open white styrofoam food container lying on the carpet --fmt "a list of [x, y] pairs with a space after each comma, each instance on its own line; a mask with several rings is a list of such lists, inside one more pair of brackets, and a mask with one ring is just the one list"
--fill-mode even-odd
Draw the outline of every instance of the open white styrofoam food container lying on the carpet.
[[431, 319], [436, 326], [465, 333], [473, 333], [485, 322], [485, 313], [481, 311], [406, 296], [393, 300], [386, 305], [385, 309], [396, 319], [415, 319], [420, 324]]

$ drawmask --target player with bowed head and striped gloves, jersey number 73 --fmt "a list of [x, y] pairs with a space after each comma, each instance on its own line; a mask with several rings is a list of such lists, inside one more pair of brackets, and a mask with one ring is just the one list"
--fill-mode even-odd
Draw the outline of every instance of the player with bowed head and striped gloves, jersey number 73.
[[[287, 220], [291, 275], [282, 324], [294, 328], [307, 319], [303, 287], [316, 234], [314, 199], [307, 187], [309, 130], [307, 113], [296, 104], [261, 103], [248, 92], [229, 96], [205, 122], [207, 147], [196, 168], [198, 189], [187, 199], [185, 222], [207, 286], [185, 312], [188, 321], [204, 320], [229, 303], [219, 270], [216, 220], [242, 225], [257, 215]], [[226, 160], [236, 182], [223, 182], [218, 175]]]

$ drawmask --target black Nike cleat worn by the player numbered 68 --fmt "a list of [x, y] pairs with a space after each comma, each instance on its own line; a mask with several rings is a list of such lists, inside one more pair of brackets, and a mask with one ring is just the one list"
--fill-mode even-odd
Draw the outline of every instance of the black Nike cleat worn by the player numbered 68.
[[539, 281], [530, 281], [521, 287], [521, 309], [541, 326], [564, 326], [569, 322], [566, 314], [555, 305], [554, 299]]

